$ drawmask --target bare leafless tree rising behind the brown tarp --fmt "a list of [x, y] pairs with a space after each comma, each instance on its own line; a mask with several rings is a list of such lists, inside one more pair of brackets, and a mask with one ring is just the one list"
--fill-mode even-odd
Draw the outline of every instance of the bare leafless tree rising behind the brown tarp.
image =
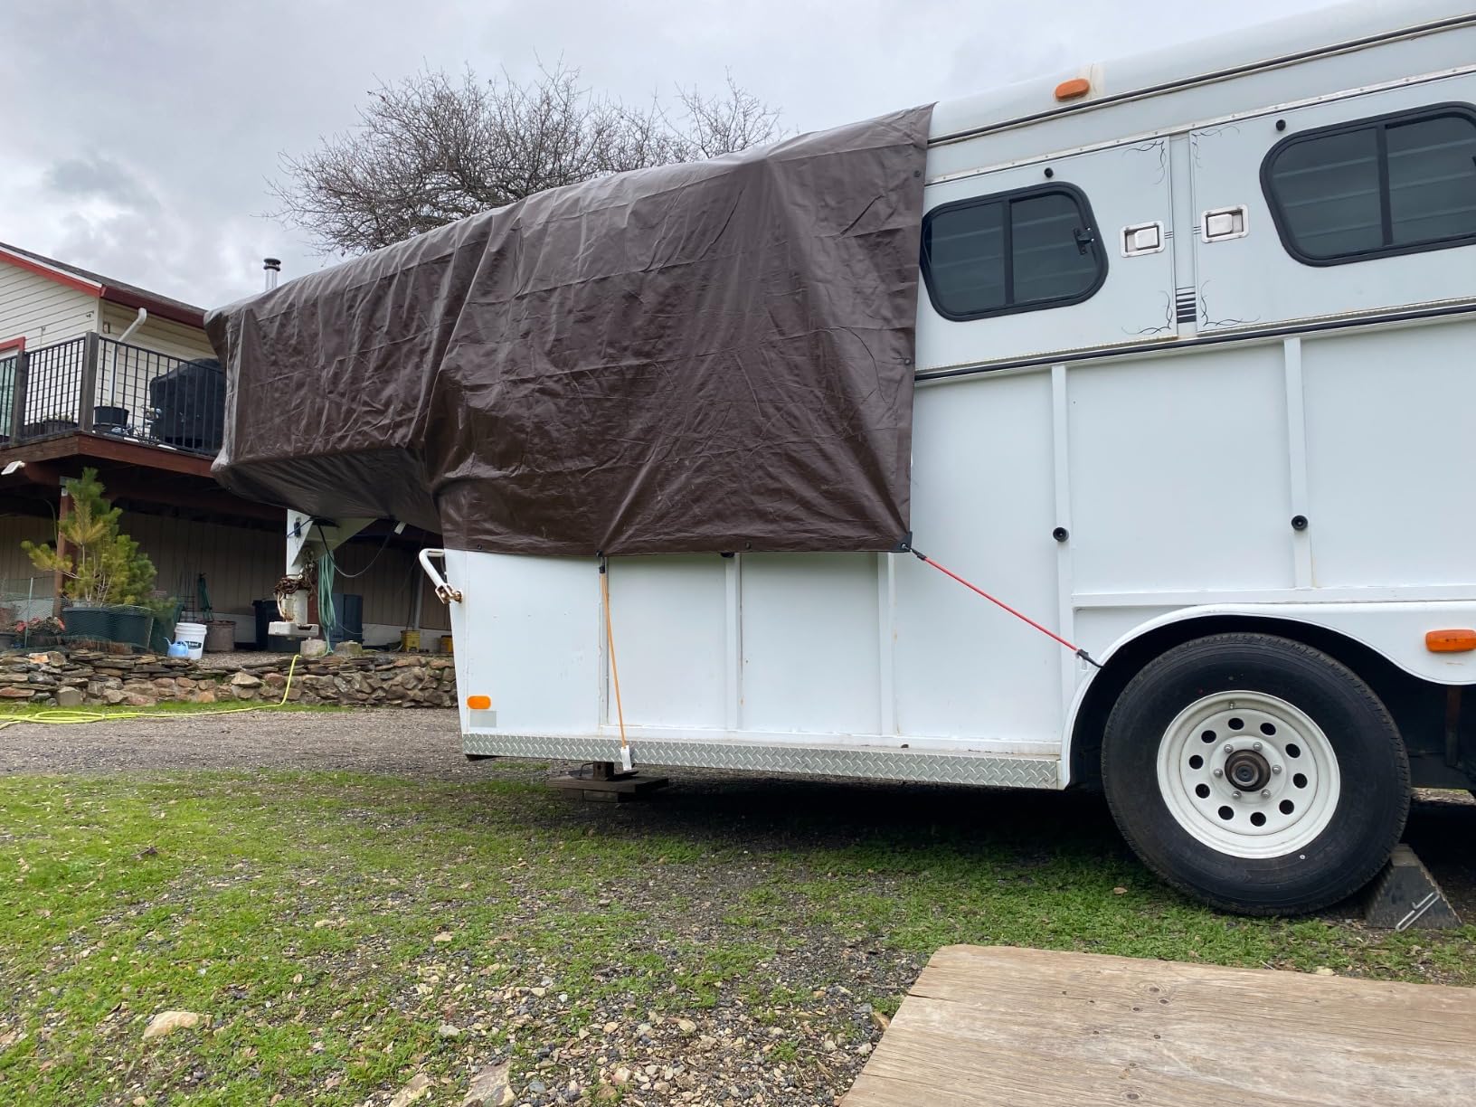
[[381, 83], [359, 125], [282, 155], [276, 214], [323, 254], [360, 254], [559, 184], [714, 158], [779, 137], [779, 112], [738, 87], [641, 109], [583, 87], [562, 63], [524, 84], [427, 69]]

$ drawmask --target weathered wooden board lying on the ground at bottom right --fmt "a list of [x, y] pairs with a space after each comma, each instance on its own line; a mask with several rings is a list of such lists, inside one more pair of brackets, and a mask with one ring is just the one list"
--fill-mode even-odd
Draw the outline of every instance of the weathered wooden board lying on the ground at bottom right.
[[1469, 1107], [1476, 989], [948, 946], [843, 1107]]

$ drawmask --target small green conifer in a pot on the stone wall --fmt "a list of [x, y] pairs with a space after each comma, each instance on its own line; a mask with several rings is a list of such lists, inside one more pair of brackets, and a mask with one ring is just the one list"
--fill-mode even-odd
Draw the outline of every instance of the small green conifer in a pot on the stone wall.
[[56, 545], [21, 548], [43, 573], [61, 573], [68, 635], [148, 646], [154, 613], [139, 604], [154, 589], [154, 562], [118, 528], [123, 509], [106, 499], [96, 469], [68, 480], [65, 492], [71, 506]]

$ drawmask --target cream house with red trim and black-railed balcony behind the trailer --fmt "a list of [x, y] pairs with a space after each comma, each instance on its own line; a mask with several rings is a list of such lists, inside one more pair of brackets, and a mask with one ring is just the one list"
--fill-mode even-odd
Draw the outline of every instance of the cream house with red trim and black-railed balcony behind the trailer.
[[[58, 583], [38, 576], [22, 540], [55, 537], [62, 480], [96, 468], [124, 509], [123, 528], [158, 568], [158, 586], [255, 642], [252, 601], [283, 571], [286, 514], [241, 499], [211, 477], [224, 378], [192, 304], [0, 244], [0, 604], [50, 608]], [[450, 623], [415, 554], [432, 534], [382, 521], [338, 551], [357, 574], [365, 638], [427, 636]]]

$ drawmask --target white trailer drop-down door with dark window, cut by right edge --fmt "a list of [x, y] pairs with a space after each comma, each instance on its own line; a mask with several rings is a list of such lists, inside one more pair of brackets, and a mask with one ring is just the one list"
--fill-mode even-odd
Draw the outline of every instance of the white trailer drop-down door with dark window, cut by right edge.
[[1190, 134], [1200, 332], [1476, 295], [1476, 75]]

